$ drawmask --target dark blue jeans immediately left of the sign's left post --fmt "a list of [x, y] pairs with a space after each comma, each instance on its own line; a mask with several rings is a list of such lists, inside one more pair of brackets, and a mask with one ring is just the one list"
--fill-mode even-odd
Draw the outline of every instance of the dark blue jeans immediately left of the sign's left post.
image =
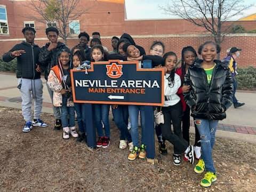
[[86, 103], [75, 103], [77, 124], [80, 132], [86, 132]]

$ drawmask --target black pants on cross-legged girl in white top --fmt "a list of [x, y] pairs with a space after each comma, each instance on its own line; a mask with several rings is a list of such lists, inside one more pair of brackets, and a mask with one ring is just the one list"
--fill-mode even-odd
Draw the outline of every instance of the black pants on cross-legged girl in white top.
[[[164, 124], [161, 124], [163, 137], [172, 143], [174, 147], [174, 154], [181, 154], [188, 147], [188, 142], [182, 138], [181, 133], [181, 102], [178, 102], [174, 106], [162, 107], [162, 111], [164, 115]], [[171, 121], [173, 125], [173, 132], [171, 129]]]

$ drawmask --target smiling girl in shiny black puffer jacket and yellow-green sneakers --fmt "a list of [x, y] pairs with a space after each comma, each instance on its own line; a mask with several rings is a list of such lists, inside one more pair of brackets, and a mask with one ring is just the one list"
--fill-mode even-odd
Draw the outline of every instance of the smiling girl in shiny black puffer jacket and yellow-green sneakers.
[[185, 85], [190, 91], [185, 93], [187, 105], [191, 108], [191, 116], [201, 137], [202, 158], [195, 166], [196, 173], [206, 171], [201, 186], [210, 187], [217, 180], [212, 159], [212, 148], [218, 121], [226, 118], [225, 111], [232, 104], [233, 88], [227, 63], [214, 60], [220, 47], [214, 42], [205, 42], [198, 53], [203, 60], [195, 61], [185, 76]]

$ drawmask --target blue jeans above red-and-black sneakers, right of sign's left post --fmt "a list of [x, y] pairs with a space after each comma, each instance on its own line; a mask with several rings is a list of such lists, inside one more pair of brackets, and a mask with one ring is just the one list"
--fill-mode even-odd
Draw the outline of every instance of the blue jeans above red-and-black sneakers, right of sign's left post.
[[110, 137], [110, 127], [109, 127], [109, 105], [104, 104], [95, 104], [94, 105], [94, 114], [95, 114], [95, 124], [97, 127], [98, 137], [103, 137], [103, 127], [102, 123], [104, 124], [105, 129], [105, 136]]

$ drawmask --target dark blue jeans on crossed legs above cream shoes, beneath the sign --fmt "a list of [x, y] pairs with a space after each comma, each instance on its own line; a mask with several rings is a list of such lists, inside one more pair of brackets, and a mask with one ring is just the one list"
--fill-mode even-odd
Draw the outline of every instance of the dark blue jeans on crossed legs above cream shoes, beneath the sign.
[[112, 107], [112, 112], [116, 126], [120, 130], [120, 140], [127, 139], [128, 142], [132, 142], [131, 134], [127, 129], [129, 118], [128, 106], [118, 105], [118, 107], [115, 109]]

